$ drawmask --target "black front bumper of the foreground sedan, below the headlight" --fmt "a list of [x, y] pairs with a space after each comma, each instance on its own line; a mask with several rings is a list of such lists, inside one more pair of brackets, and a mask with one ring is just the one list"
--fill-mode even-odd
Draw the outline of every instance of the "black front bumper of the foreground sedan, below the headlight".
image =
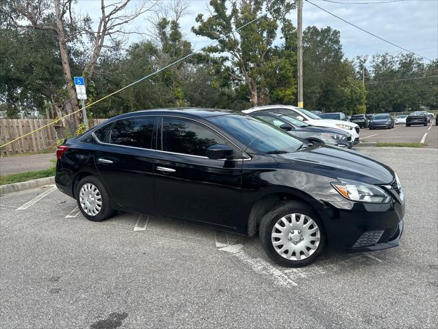
[[329, 247], [366, 252], [396, 247], [403, 232], [405, 202], [388, 204], [329, 203], [333, 217], [324, 220]]

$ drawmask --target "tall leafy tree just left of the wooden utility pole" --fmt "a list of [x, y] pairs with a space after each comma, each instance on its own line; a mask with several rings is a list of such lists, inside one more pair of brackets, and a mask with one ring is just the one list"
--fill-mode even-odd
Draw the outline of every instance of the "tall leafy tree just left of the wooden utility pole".
[[[248, 88], [252, 106], [268, 101], [264, 90], [266, 65], [270, 49], [276, 39], [277, 29], [287, 21], [285, 16], [295, 8], [295, 1], [287, 0], [211, 0], [210, 16], [196, 16], [197, 27], [192, 31], [198, 36], [218, 40], [208, 47], [207, 53], [224, 53], [224, 70], [237, 84]], [[259, 18], [259, 19], [257, 19]], [[254, 21], [238, 32], [235, 29]]]

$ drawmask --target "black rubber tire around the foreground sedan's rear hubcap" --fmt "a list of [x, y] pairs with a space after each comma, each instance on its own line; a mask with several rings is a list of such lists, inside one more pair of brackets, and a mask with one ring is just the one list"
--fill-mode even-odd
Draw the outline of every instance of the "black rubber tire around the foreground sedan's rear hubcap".
[[[83, 206], [81, 206], [81, 188], [86, 184], [94, 185], [98, 190], [98, 195], [100, 195], [101, 208], [99, 212], [97, 212], [95, 215], [87, 213], [86, 210], [84, 210]], [[105, 190], [105, 187], [103, 187], [101, 181], [95, 176], [86, 176], [85, 178], [82, 178], [77, 183], [75, 195], [77, 207], [79, 208], [79, 210], [81, 210], [83, 217], [86, 217], [86, 219], [88, 219], [89, 221], [103, 221], [104, 219], [112, 217], [112, 215], [114, 215], [115, 213], [115, 210], [111, 208], [110, 197]]]

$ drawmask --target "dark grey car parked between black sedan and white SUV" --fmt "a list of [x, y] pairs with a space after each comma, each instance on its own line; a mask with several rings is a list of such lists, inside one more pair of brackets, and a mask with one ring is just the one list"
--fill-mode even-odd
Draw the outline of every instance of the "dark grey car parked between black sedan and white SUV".
[[348, 149], [353, 145], [351, 135], [343, 130], [316, 127], [293, 117], [289, 117], [287, 114], [275, 112], [254, 112], [253, 116], [262, 119], [271, 125], [275, 125], [292, 136], [301, 138], [309, 143], [324, 143], [326, 145], [347, 147]]

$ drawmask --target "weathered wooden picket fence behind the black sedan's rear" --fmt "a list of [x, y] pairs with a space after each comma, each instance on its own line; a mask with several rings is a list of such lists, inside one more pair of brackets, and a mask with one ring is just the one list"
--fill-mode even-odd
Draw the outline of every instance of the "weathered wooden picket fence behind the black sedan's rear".
[[[93, 119], [90, 121], [92, 126], [94, 126], [105, 121], [105, 119]], [[0, 119], [0, 145], [52, 122], [53, 120], [47, 119]], [[38, 132], [34, 132], [34, 134], [25, 136], [10, 145], [1, 147], [0, 156], [35, 153], [46, 149], [54, 149], [57, 140], [63, 136], [65, 136], [64, 128], [60, 126], [60, 123], [55, 123], [44, 127], [42, 130], [38, 130]]]

